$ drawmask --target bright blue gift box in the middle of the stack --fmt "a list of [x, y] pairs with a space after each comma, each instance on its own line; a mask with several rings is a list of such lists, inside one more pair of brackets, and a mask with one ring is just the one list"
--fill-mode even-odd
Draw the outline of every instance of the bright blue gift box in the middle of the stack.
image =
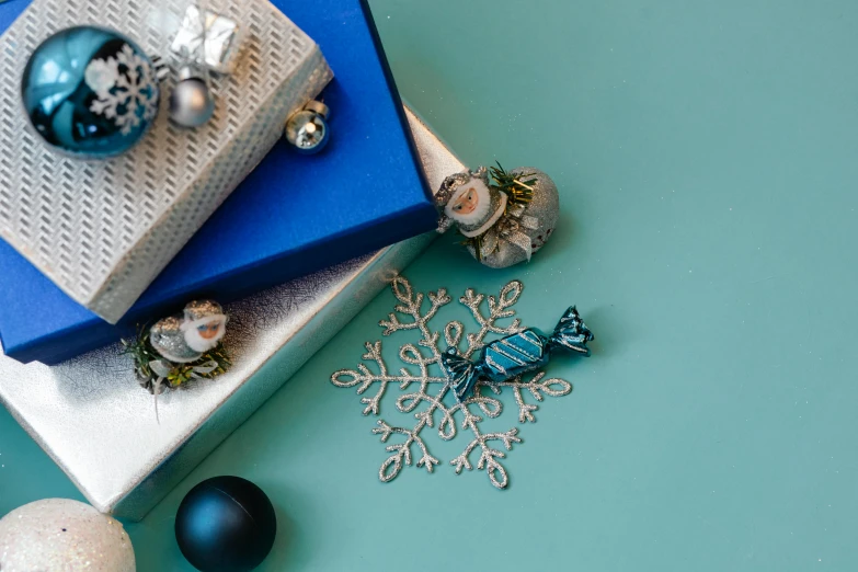
[[[26, 8], [0, 4], [0, 32]], [[332, 138], [285, 142], [239, 185], [123, 320], [111, 325], [0, 241], [5, 355], [52, 365], [106, 345], [194, 297], [241, 298], [433, 229], [436, 213], [365, 0], [274, 0], [321, 47], [335, 78]]]

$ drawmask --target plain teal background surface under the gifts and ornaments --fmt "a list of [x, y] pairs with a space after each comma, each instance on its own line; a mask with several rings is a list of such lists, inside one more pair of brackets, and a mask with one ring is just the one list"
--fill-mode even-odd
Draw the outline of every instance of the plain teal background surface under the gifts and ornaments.
[[[173, 515], [222, 473], [277, 507], [262, 570], [858, 570], [858, 3], [371, 7], [404, 99], [467, 163], [561, 188], [529, 265], [483, 268], [445, 236], [407, 276], [455, 297], [519, 278], [524, 322], [576, 304], [594, 355], [550, 364], [574, 391], [536, 424], [506, 396], [508, 490], [454, 473], [464, 436], [382, 484], [375, 419], [330, 376], [381, 339], [386, 291], [127, 526], [138, 570], [191, 570]], [[407, 423], [393, 394], [380, 416]], [[0, 465], [0, 513], [79, 497], [5, 412]]]

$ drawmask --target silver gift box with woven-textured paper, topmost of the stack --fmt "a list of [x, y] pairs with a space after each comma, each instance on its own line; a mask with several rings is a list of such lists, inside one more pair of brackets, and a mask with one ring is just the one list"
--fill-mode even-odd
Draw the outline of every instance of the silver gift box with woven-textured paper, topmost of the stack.
[[[31, 131], [21, 106], [28, 56], [52, 34], [108, 26], [170, 60], [190, 0], [34, 0], [0, 38], [0, 237], [71, 298], [116, 322], [230, 192], [281, 140], [288, 115], [332, 73], [319, 47], [267, 0], [206, 0], [244, 33], [232, 73], [211, 78], [217, 104], [196, 129], [165, 110], [127, 153], [64, 158]], [[285, 144], [284, 144], [285, 145]]]

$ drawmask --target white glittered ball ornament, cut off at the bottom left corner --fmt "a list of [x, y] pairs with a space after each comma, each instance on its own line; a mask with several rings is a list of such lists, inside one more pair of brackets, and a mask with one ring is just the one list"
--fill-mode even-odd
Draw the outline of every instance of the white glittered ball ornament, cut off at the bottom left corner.
[[135, 572], [134, 548], [122, 524], [92, 506], [47, 499], [0, 519], [2, 572]]

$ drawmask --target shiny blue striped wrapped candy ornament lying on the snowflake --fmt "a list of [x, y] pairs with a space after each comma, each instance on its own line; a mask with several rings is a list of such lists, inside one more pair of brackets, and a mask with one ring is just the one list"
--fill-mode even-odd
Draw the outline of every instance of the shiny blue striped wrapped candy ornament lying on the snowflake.
[[556, 350], [590, 357], [587, 342], [593, 339], [593, 332], [572, 306], [551, 335], [537, 328], [528, 328], [487, 344], [474, 362], [462, 357], [455, 346], [450, 346], [441, 355], [441, 368], [456, 398], [461, 401], [473, 391], [480, 379], [500, 382], [539, 369]]

